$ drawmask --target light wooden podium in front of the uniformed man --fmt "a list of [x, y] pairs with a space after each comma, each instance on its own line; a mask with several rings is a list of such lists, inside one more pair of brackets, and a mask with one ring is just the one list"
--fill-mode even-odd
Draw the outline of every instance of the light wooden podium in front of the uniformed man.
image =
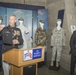
[[[34, 49], [42, 50], [41, 58], [24, 61], [24, 59], [23, 59], [24, 51], [34, 50]], [[11, 49], [2, 55], [2, 60], [5, 62], [8, 62], [10, 64], [10, 66], [11, 66], [10, 75], [23, 75], [23, 67], [33, 65], [33, 64], [36, 64], [36, 75], [37, 75], [37, 63], [44, 61], [44, 47], [39, 46], [36, 48], [25, 49], [25, 50]]]

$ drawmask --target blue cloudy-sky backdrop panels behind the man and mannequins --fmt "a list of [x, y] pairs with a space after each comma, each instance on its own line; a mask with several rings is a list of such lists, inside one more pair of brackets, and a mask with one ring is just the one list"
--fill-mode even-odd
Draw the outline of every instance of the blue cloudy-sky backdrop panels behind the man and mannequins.
[[[18, 19], [24, 19], [24, 25], [28, 28], [29, 34], [26, 35], [26, 39], [28, 44], [30, 44], [30, 40], [35, 40], [35, 32], [39, 25], [39, 21], [43, 20], [45, 25], [44, 28], [48, 31], [48, 15], [47, 9], [39, 9], [39, 10], [24, 10], [24, 9], [16, 9], [16, 8], [5, 8], [0, 7], [0, 16], [3, 18], [2, 24], [6, 26], [9, 25], [9, 17], [11, 15], [16, 15], [17, 22], [16, 25], [19, 25]], [[34, 43], [35, 44], [35, 43]], [[29, 45], [28, 45], [29, 46]]]

